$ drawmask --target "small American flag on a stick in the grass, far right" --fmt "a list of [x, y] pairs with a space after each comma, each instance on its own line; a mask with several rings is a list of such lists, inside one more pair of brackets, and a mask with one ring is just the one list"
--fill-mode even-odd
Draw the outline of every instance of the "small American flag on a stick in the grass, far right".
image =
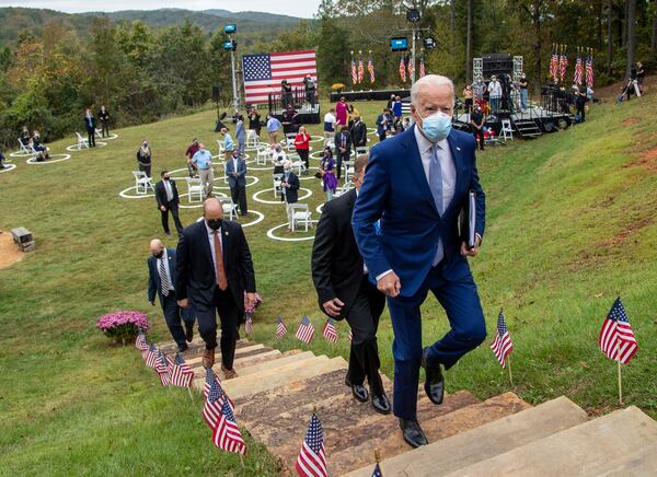
[[613, 306], [602, 323], [598, 342], [607, 358], [622, 364], [627, 364], [638, 349], [620, 298], [613, 302]]

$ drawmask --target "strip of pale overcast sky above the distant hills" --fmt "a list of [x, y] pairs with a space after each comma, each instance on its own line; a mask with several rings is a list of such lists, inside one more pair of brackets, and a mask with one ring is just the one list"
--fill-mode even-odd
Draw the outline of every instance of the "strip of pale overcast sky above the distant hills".
[[[106, 2], [106, 5], [103, 5], [103, 3], [90, 2], [89, 0], [0, 0], [0, 7], [50, 9], [68, 13], [176, 8], [187, 10], [222, 9], [231, 12], [267, 12], [308, 19], [316, 12], [320, 0], [110, 0]], [[272, 8], [273, 4], [275, 4], [274, 9]]]

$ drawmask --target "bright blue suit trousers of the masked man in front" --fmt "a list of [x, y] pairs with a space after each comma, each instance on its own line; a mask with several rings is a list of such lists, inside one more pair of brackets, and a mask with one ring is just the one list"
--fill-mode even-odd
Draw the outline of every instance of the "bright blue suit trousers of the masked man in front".
[[442, 264], [433, 267], [413, 296], [388, 299], [394, 341], [393, 412], [404, 419], [417, 418], [417, 384], [422, 359], [422, 315], [419, 306], [429, 290], [447, 313], [451, 329], [427, 349], [427, 364], [450, 369], [468, 351], [486, 338], [486, 323], [472, 275], [458, 280], [442, 276]]

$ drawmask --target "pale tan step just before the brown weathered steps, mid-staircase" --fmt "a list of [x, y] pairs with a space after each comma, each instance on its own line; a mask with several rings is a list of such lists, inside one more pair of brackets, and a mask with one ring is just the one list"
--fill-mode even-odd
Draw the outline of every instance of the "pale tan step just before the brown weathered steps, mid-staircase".
[[347, 362], [342, 357], [332, 359], [326, 359], [326, 357], [315, 357], [309, 361], [303, 361], [300, 364], [303, 364], [303, 367], [291, 367], [290, 369], [280, 372], [277, 370], [268, 370], [275, 372], [268, 374], [266, 380], [263, 380], [261, 373], [255, 373], [244, 376], [243, 379], [224, 381], [223, 389], [231, 399], [240, 399], [253, 396], [263, 391], [283, 386], [292, 381], [303, 381], [308, 377], [325, 374], [347, 367]]

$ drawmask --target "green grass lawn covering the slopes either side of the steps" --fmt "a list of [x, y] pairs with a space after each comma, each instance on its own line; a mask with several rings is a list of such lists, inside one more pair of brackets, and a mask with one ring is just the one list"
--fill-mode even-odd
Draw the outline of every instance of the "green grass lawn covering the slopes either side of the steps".
[[[637, 163], [643, 151], [657, 146], [657, 126], [646, 119], [623, 124], [650, 117], [656, 105], [646, 96], [598, 106], [584, 125], [480, 154], [487, 231], [471, 264], [491, 339], [497, 312], [505, 309], [516, 386], [482, 346], [448, 373], [448, 391], [464, 388], [485, 398], [510, 389], [533, 404], [565, 394], [591, 414], [615, 408], [615, 365], [599, 351], [597, 336], [621, 293], [639, 344], [623, 369], [625, 403], [657, 417], [657, 175]], [[370, 125], [380, 106], [358, 105]], [[132, 348], [110, 346], [94, 327], [101, 314], [136, 309], [148, 312], [155, 340], [170, 339], [161, 310], [146, 301], [148, 242], [163, 235], [154, 199], [126, 200], [118, 193], [131, 185], [142, 139], [152, 146], [157, 175], [163, 167], [184, 166], [192, 137], [216, 150], [212, 119], [211, 112], [204, 112], [118, 130], [119, 139], [106, 148], [72, 153], [70, 161], [51, 165], [14, 159], [19, 167], [0, 174], [0, 229], [24, 225], [37, 242], [36, 252], [0, 270], [2, 473], [276, 472], [273, 457], [249, 437], [246, 469], [237, 456], [218, 452], [199, 415], [200, 398], [192, 405], [184, 389], [161, 388]], [[311, 130], [318, 133], [319, 127]], [[50, 146], [58, 153], [72, 142]], [[261, 178], [250, 195], [270, 186], [268, 172], [250, 175]], [[185, 189], [182, 181], [178, 186]], [[302, 187], [313, 190], [309, 202], [314, 210], [323, 201], [319, 181], [303, 181]], [[277, 314], [291, 335], [304, 313], [318, 328], [323, 323], [310, 279], [312, 242], [268, 240], [266, 231], [285, 222], [283, 207], [251, 197], [250, 207], [266, 214], [245, 229], [265, 300], [253, 339], [284, 350], [346, 357], [344, 324], [336, 346], [321, 338], [310, 347], [290, 336], [273, 338]], [[188, 224], [199, 210], [181, 216]], [[165, 242], [175, 245], [174, 238]], [[429, 344], [447, 330], [447, 322], [433, 298], [423, 312]], [[385, 314], [379, 342], [389, 376], [391, 341]]]

